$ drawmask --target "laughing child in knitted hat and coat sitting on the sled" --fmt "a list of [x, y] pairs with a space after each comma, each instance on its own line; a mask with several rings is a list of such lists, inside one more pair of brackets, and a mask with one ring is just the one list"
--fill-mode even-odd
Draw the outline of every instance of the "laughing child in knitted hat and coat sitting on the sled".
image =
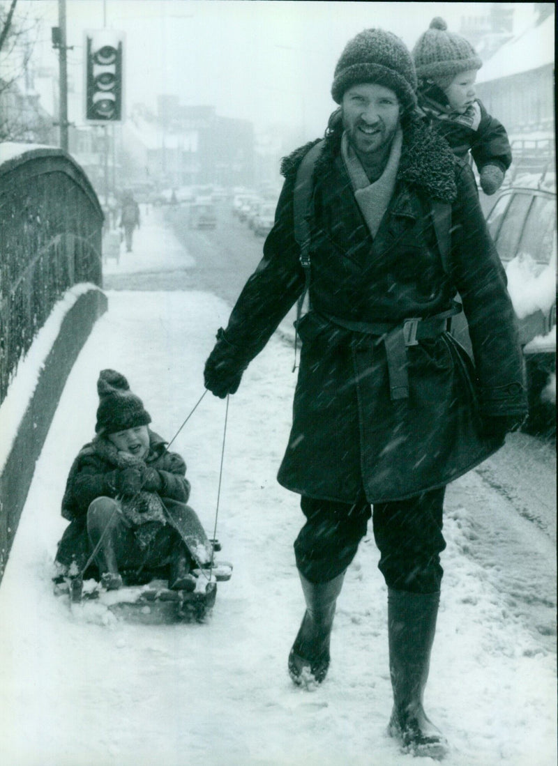
[[97, 391], [97, 435], [67, 478], [62, 516], [71, 523], [57, 565], [108, 590], [166, 575], [169, 588], [191, 591], [189, 573], [211, 564], [212, 545], [186, 505], [185, 462], [148, 427], [151, 417], [123, 375], [102, 370]]

